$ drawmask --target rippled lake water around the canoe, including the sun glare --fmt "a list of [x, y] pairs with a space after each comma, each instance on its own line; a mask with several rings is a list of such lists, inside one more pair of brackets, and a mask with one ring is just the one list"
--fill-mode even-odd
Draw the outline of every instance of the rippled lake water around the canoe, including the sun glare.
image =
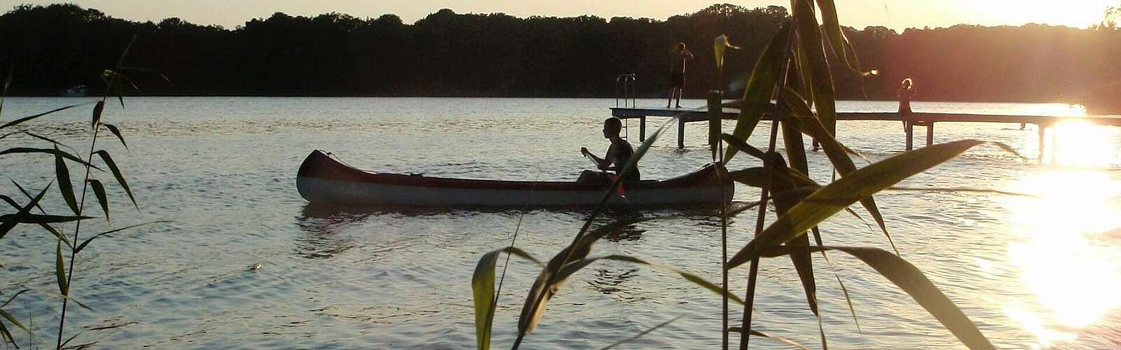
[[[2, 120], [34, 114], [78, 98], [8, 99]], [[664, 101], [639, 101], [659, 105]], [[371, 171], [427, 175], [574, 179], [596, 154], [614, 100], [402, 98], [135, 98], [106, 108], [131, 151], [105, 138], [138, 197], [131, 208], [110, 185], [113, 219], [83, 223], [83, 236], [150, 220], [174, 220], [94, 241], [77, 261], [72, 293], [92, 310], [68, 310], [72, 344], [95, 348], [472, 348], [471, 275], [480, 256], [510, 243], [548, 259], [571, 241], [587, 213], [540, 210], [350, 210], [308, 206], [296, 192], [300, 162], [313, 149], [333, 151]], [[683, 104], [701, 105], [702, 101]], [[841, 102], [845, 111], [891, 111], [895, 102]], [[916, 102], [916, 111], [1077, 114], [1065, 104]], [[91, 108], [27, 125], [86, 149]], [[649, 128], [659, 120], [651, 118]], [[725, 123], [730, 129], [731, 122]], [[705, 123], [686, 128], [686, 149], [668, 128], [643, 158], [643, 178], [691, 172], [708, 159]], [[760, 126], [766, 130], [767, 123]], [[938, 141], [979, 138], [1036, 157], [1035, 126], [939, 123]], [[902, 183], [910, 187], [973, 187], [1031, 196], [955, 191], [888, 192], [877, 196], [902, 256], [957, 303], [999, 348], [1121, 347], [1121, 129], [1071, 122], [1055, 128], [1058, 165], [1018, 159], [982, 146]], [[637, 141], [637, 120], [628, 133]], [[916, 129], [916, 144], [923, 144]], [[869, 158], [904, 147], [898, 122], [843, 121], [839, 138]], [[1048, 135], [1051, 135], [1050, 132]], [[766, 139], [751, 140], [766, 146]], [[12, 136], [0, 148], [48, 144]], [[1048, 141], [1050, 145], [1051, 141]], [[779, 142], [781, 145], [781, 142]], [[809, 154], [810, 173], [828, 181], [828, 160]], [[730, 168], [759, 166], [738, 157]], [[54, 178], [49, 157], [0, 157], [0, 175], [33, 191]], [[72, 166], [72, 174], [80, 172]], [[96, 174], [112, 183], [112, 177]], [[0, 193], [16, 194], [7, 181]], [[735, 200], [758, 192], [739, 186]], [[57, 193], [48, 211], [62, 213]], [[22, 202], [22, 201], [21, 201]], [[89, 206], [101, 215], [95, 204]], [[719, 220], [697, 212], [640, 223], [597, 243], [593, 255], [623, 254], [720, 282]], [[742, 247], [754, 225], [747, 212], [730, 228]], [[65, 225], [67, 233], [72, 225]], [[882, 233], [837, 215], [822, 225], [827, 245], [891, 249]], [[17, 228], [0, 240], [0, 297], [34, 331], [20, 344], [54, 346], [59, 301], [55, 240]], [[962, 348], [907, 294], [860, 260], [833, 252], [833, 269], [814, 257], [830, 346]], [[249, 270], [253, 264], [261, 268]], [[500, 264], [501, 273], [501, 264]], [[495, 316], [493, 343], [509, 347], [518, 311], [539, 268], [510, 262]], [[853, 322], [833, 273], [844, 280], [860, 322]], [[733, 270], [742, 295], [747, 268]], [[758, 329], [818, 348], [817, 322], [789, 259], [763, 260]], [[548, 305], [525, 349], [601, 348], [680, 316], [622, 348], [720, 346], [720, 297], [675, 275], [623, 262], [577, 273]], [[740, 310], [733, 307], [733, 310]], [[739, 321], [739, 312], [733, 312]], [[733, 338], [734, 341], [734, 338]], [[766, 339], [759, 348], [784, 348]]]

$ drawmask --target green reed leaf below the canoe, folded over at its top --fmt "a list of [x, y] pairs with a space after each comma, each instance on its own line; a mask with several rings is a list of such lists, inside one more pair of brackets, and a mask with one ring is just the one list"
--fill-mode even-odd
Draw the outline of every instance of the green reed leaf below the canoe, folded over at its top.
[[494, 266], [498, 257], [502, 252], [512, 254], [526, 260], [541, 265], [525, 250], [506, 247], [492, 250], [479, 258], [475, 265], [475, 273], [471, 276], [471, 294], [475, 304], [475, 344], [478, 349], [490, 349], [492, 324], [494, 322], [494, 310], [498, 308], [494, 295]]

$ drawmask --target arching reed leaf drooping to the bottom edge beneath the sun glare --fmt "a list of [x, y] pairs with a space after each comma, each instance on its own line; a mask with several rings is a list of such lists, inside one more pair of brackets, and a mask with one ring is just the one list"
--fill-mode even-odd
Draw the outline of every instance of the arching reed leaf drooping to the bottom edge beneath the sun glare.
[[[777, 257], [787, 255], [790, 250], [789, 248], [772, 248], [765, 251], [762, 256]], [[970, 349], [995, 349], [953, 301], [927, 279], [923, 271], [899, 256], [870, 247], [812, 247], [808, 250], [840, 250], [860, 259], [910, 295]]]

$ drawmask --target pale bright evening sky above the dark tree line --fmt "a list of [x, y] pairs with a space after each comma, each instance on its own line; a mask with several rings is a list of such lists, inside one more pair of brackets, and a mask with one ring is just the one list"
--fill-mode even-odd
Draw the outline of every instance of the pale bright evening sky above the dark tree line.
[[[378, 17], [396, 13], [413, 22], [442, 8], [457, 13], [504, 12], [518, 17], [532, 15], [569, 17], [595, 15], [650, 17], [694, 12], [720, 0], [0, 0], [0, 10], [20, 3], [43, 4], [73, 2], [131, 20], [159, 21], [179, 17], [200, 25], [217, 24], [234, 28], [251, 18], [272, 12], [314, 16], [324, 12], [350, 13], [355, 17]], [[728, 1], [728, 0], [725, 0]], [[788, 1], [728, 1], [748, 8], [779, 4]], [[1101, 21], [1106, 6], [1121, 0], [839, 0], [841, 24], [855, 28], [886, 26], [895, 29], [925, 26], [948, 27], [956, 24], [984, 26], [1028, 22], [1085, 28]]]

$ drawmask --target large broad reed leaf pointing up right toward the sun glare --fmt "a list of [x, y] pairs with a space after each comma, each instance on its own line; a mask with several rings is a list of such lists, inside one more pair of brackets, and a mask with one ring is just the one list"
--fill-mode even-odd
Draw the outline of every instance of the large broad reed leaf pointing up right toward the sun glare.
[[911, 150], [856, 169], [817, 190], [780, 215], [729, 261], [736, 267], [759, 257], [762, 249], [778, 247], [852, 203], [942, 164], [984, 141], [960, 140]]

